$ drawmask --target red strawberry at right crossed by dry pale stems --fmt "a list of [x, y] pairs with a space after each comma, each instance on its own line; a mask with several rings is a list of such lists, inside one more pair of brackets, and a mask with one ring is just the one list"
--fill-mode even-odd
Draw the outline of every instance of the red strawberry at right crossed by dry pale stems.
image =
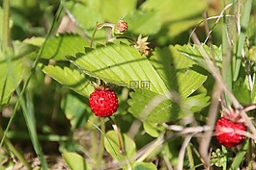
[[225, 117], [221, 117], [216, 121], [216, 139], [225, 147], [232, 148], [244, 140], [245, 136], [239, 131], [246, 131], [246, 127], [242, 122], [233, 122]]

